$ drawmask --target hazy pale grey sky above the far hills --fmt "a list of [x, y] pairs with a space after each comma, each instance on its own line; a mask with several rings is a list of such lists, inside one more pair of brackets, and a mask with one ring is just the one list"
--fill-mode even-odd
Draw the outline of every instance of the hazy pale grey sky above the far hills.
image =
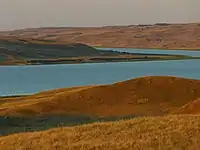
[[200, 0], [0, 0], [0, 30], [200, 22]]

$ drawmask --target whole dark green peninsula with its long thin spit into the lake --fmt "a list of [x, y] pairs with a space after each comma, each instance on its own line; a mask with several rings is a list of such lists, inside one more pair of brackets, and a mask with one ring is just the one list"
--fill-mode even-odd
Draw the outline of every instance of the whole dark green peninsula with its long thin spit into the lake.
[[[1, 60], [1, 57], [6, 58]], [[55, 43], [48, 40], [0, 38], [0, 64], [65, 64], [135, 60], [189, 59], [187, 56], [129, 54], [102, 51], [80, 43]]]

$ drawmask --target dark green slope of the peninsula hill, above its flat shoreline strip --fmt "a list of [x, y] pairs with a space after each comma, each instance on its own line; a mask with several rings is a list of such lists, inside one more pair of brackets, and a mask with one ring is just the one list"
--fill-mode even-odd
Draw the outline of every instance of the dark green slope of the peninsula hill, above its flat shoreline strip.
[[56, 44], [18, 38], [1, 39], [1, 53], [22, 59], [53, 59], [81, 56], [119, 55], [117, 52], [104, 52], [80, 43]]

